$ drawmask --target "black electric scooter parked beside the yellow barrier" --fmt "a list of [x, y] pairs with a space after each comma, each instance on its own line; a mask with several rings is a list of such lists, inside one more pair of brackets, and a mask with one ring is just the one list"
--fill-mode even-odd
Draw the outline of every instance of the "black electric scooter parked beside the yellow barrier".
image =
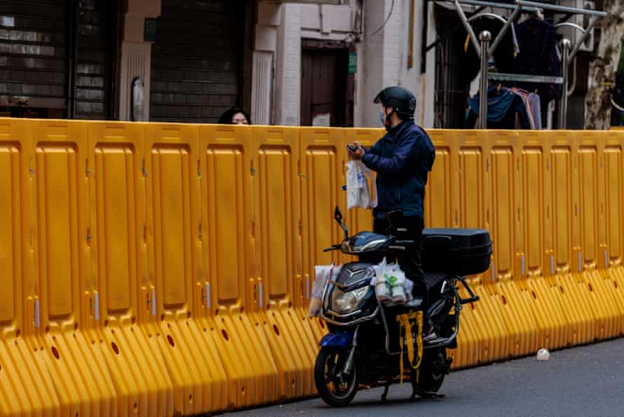
[[[462, 305], [479, 300], [465, 276], [489, 268], [488, 232], [426, 229], [422, 242], [400, 240], [394, 235], [397, 233], [359, 232], [349, 237], [338, 207], [334, 219], [345, 237], [325, 251], [340, 250], [364, 260], [372, 254], [391, 258], [409, 246], [421, 244], [430, 303], [428, 316], [438, 338], [423, 343], [422, 298], [394, 306], [379, 303], [371, 286], [376, 274], [374, 264], [346, 263], [335, 280], [327, 281], [321, 299], [320, 319], [330, 332], [320, 341], [314, 366], [320, 397], [330, 406], [345, 406], [360, 386], [384, 386], [385, 401], [389, 386], [404, 380], [412, 384], [412, 399], [416, 395], [441, 397], [437, 392], [452, 364], [447, 349], [457, 346]], [[388, 215], [391, 230], [396, 230], [393, 225], [401, 219], [400, 212]], [[459, 285], [466, 289], [468, 298], [460, 296]]]

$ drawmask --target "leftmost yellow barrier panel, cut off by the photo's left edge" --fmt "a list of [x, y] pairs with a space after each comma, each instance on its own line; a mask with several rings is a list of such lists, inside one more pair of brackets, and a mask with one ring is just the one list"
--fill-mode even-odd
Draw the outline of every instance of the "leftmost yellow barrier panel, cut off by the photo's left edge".
[[[60, 400], [34, 336], [41, 326], [36, 314], [34, 230], [31, 178], [32, 128], [29, 121], [0, 119], [0, 416], [58, 416]], [[31, 168], [31, 169], [29, 169]], [[36, 301], [35, 301], [36, 300]]]

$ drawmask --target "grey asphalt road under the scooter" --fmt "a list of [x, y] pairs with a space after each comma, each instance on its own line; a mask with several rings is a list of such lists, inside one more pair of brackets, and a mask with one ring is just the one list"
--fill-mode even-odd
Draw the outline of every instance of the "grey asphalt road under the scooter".
[[536, 357], [456, 371], [447, 376], [444, 399], [409, 402], [409, 384], [363, 390], [343, 409], [321, 399], [227, 413], [243, 416], [624, 416], [624, 338]]

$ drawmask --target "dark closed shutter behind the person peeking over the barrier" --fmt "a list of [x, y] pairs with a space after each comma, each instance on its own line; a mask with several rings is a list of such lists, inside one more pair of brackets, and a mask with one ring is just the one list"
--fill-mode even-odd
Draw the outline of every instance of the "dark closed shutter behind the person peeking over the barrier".
[[236, 105], [244, 8], [163, 0], [151, 53], [150, 119], [212, 123]]

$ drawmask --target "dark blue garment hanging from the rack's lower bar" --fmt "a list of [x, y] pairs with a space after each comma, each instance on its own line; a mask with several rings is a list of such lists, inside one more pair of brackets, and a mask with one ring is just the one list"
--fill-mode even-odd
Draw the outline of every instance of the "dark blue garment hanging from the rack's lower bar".
[[[479, 95], [468, 99], [468, 113], [466, 114], [466, 127], [474, 128], [479, 117]], [[514, 129], [516, 117], [520, 119], [520, 127], [529, 129], [529, 116], [527, 108], [520, 95], [513, 93], [508, 88], [491, 86], [487, 90], [487, 128], [490, 129]]]

